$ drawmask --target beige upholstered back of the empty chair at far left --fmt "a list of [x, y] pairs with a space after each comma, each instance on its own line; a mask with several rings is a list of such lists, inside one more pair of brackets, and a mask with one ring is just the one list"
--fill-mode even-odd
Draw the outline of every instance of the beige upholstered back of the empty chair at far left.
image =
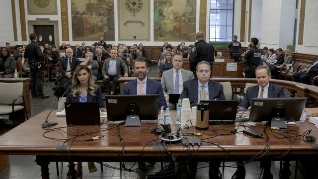
[[[12, 104], [13, 98], [22, 95], [23, 83], [0, 83], [0, 104]], [[15, 104], [23, 103], [23, 98], [19, 97]]]

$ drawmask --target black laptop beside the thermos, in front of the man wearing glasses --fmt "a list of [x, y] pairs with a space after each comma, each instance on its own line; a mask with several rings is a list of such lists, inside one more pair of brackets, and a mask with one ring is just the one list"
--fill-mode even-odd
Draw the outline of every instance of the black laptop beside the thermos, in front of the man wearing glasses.
[[200, 100], [200, 102], [210, 104], [210, 122], [235, 122], [239, 100]]

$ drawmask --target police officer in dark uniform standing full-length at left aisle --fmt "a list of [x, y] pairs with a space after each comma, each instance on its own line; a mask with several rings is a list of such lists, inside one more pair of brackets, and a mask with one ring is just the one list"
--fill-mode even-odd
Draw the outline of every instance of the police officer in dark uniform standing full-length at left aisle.
[[30, 66], [32, 98], [48, 98], [50, 96], [44, 95], [42, 90], [44, 54], [36, 43], [38, 39], [35, 33], [30, 34], [30, 40], [31, 43], [25, 48], [24, 58], [28, 59]]

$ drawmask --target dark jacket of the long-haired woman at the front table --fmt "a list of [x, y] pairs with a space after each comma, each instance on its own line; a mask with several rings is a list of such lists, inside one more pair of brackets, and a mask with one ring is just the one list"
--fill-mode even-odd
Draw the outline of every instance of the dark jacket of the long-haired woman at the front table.
[[[76, 95], [75, 97], [73, 97], [71, 94], [71, 91], [72, 91], [72, 88], [69, 88], [68, 92], [66, 94], [66, 102], [79, 102], [79, 94]], [[96, 92], [96, 95], [92, 96], [87, 91], [87, 102], [99, 102], [99, 108], [105, 107], [104, 99], [103, 99], [103, 96], [101, 94], [100, 88], [97, 87], [95, 92]], [[81, 109], [79, 109], [79, 110], [81, 110]]]

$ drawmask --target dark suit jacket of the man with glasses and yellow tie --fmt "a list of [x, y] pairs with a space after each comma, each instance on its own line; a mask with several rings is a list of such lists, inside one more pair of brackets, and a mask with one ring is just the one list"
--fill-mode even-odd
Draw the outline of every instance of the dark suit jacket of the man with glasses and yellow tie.
[[[197, 78], [183, 82], [183, 90], [181, 92], [179, 99], [189, 98], [190, 106], [196, 106], [198, 103], [199, 95], [198, 88], [199, 83]], [[225, 100], [225, 96], [223, 93], [223, 85], [213, 80], [209, 80], [209, 99]]]

